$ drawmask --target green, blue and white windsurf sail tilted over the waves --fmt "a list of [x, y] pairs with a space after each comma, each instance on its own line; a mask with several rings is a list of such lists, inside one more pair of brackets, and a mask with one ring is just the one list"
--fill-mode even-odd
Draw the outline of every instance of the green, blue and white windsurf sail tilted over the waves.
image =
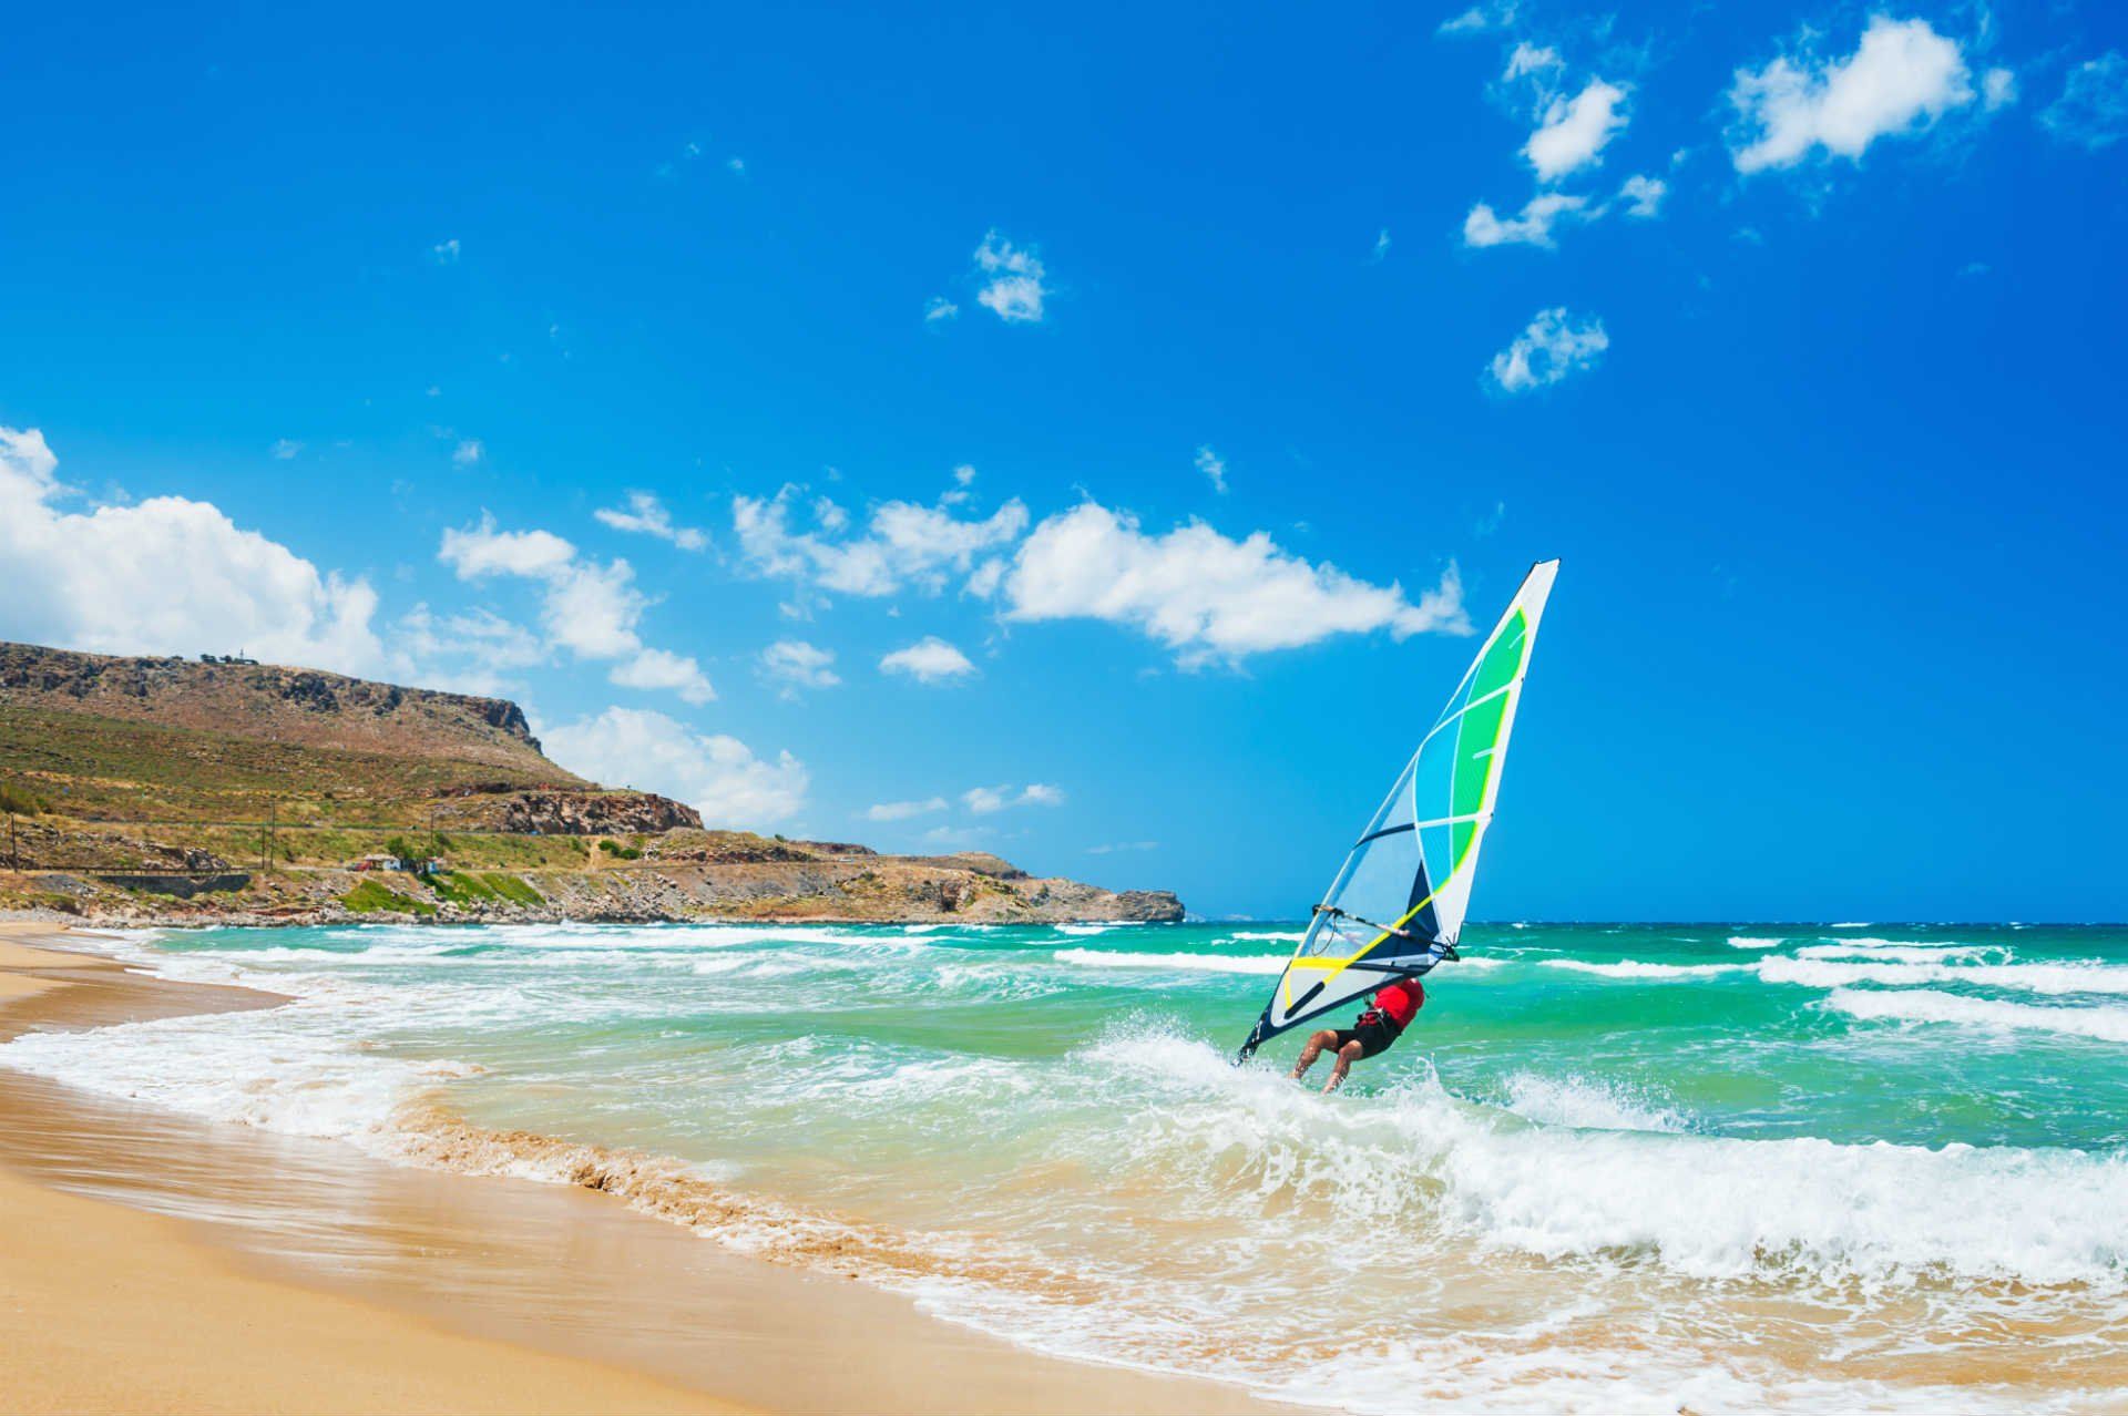
[[1558, 572], [1558, 561], [1539, 561], [1524, 576], [1447, 708], [1330, 880], [1264, 1016], [1241, 1046], [1243, 1057], [1290, 1027], [1456, 957], [1477, 848], [1492, 825], [1507, 738], [1536, 646], [1536, 621]]

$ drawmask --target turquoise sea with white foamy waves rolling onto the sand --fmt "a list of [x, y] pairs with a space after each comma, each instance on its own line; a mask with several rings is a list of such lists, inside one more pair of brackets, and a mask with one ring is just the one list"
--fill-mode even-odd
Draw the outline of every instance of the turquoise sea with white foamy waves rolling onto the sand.
[[294, 1001], [0, 1065], [1330, 1410], [2128, 1410], [2128, 929], [1470, 925], [1328, 1097], [1298, 938], [134, 931]]

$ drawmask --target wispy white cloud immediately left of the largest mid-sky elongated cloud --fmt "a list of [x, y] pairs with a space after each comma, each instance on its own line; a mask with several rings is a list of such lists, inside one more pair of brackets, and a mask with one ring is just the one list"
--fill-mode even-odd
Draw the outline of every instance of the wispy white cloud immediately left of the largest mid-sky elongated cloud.
[[747, 566], [762, 576], [789, 576], [845, 595], [892, 595], [904, 585], [926, 593], [945, 589], [949, 574], [966, 574], [994, 546], [1011, 544], [1028, 527], [1028, 508], [1007, 502], [981, 521], [964, 521], [943, 506], [885, 502], [872, 510], [866, 534], [834, 540], [845, 517], [815, 504], [821, 532], [792, 532], [792, 487], [772, 498], [732, 498], [732, 529]]

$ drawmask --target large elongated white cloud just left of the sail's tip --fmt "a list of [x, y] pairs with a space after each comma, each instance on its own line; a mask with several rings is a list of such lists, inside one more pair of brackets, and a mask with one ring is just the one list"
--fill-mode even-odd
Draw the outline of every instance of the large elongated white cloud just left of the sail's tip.
[[1045, 519], [1004, 580], [1007, 619], [1130, 625], [1185, 665], [1298, 648], [1332, 634], [1468, 634], [1451, 566], [1439, 589], [1404, 597], [1334, 566], [1311, 566], [1256, 532], [1228, 540], [1202, 521], [1147, 536], [1130, 515], [1087, 502]]

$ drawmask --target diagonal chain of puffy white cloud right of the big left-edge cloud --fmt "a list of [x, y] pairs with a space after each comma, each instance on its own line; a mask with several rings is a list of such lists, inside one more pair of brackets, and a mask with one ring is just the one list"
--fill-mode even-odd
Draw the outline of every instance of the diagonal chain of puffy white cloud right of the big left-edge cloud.
[[628, 561], [592, 561], [553, 532], [500, 532], [496, 519], [447, 529], [436, 559], [460, 580], [511, 576], [541, 587], [541, 625], [547, 642], [577, 659], [619, 659], [609, 680], [626, 689], [670, 689], [689, 704], [717, 693], [687, 655], [643, 644], [636, 625], [651, 600], [634, 587]]

